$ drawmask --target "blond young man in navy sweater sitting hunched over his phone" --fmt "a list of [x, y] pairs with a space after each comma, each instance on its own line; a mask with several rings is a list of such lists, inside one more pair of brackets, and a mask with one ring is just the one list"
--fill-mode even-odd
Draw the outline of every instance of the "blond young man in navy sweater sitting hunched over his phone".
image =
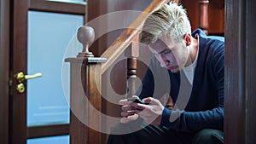
[[224, 37], [191, 33], [186, 11], [170, 3], [148, 16], [141, 43], [154, 54], [138, 94], [146, 104], [119, 101], [108, 144], [224, 143]]

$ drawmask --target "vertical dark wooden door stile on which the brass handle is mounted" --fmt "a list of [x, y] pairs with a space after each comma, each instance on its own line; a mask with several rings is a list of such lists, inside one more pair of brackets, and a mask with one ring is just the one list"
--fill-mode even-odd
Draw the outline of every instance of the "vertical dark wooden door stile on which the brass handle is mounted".
[[[14, 1], [14, 17], [13, 26], [11, 27], [12, 35], [12, 50], [10, 67], [10, 75], [17, 72], [26, 72], [26, 55], [27, 55], [27, 9], [29, 0]], [[26, 92], [23, 94], [18, 93], [15, 89], [17, 82], [13, 78], [13, 87], [10, 95], [11, 101], [11, 114], [10, 114], [10, 143], [24, 144], [26, 143]], [[26, 82], [24, 83], [26, 85]]]

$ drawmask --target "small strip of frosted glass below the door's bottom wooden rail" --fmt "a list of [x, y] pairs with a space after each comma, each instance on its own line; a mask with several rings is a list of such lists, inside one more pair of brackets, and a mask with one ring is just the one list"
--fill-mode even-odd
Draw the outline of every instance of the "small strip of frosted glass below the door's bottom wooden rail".
[[28, 139], [26, 144], [69, 144], [69, 135]]

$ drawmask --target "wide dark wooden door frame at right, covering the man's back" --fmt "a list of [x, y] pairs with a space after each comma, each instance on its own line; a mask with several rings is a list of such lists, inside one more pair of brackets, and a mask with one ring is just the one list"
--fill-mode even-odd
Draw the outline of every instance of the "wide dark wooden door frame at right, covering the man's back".
[[224, 135], [256, 143], [256, 10], [254, 0], [225, 0]]

